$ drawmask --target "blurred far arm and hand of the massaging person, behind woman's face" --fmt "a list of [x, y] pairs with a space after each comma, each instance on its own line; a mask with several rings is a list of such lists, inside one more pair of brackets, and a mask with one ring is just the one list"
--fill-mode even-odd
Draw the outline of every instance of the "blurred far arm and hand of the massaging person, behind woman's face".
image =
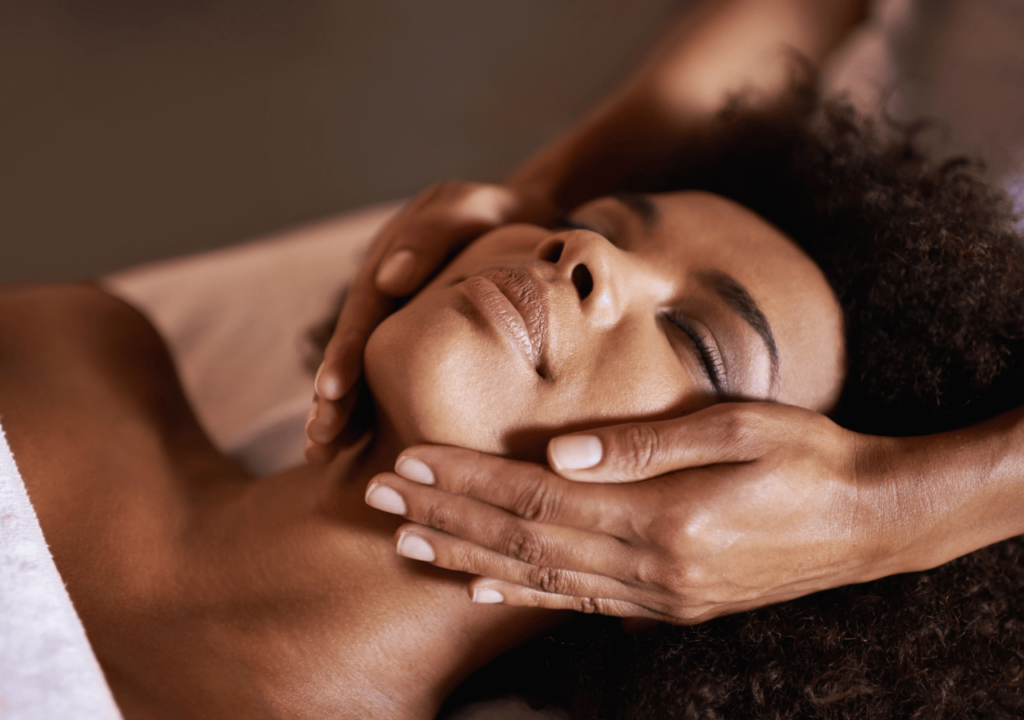
[[[367, 338], [392, 298], [417, 290], [453, 252], [511, 221], [560, 209], [651, 171], [707, 129], [733, 93], [771, 101], [788, 87], [794, 52], [816, 66], [864, 17], [867, 0], [702, 0], [686, 4], [629, 78], [513, 174], [507, 187], [441, 183], [378, 237], [353, 282], [316, 376], [307, 457], [331, 457]], [[357, 389], [357, 388], [356, 388]]]

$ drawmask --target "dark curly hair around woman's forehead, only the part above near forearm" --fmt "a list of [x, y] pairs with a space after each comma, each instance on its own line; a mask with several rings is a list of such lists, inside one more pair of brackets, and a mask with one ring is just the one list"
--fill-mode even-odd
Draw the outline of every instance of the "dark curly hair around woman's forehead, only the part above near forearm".
[[1020, 404], [1024, 253], [1009, 201], [972, 172], [980, 166], [929, 163], [914, 146], [922, 125], [883, 139], [809, 89], [773, 111], [735, 100], [720, 121], [627, 184], [725, 196], [811, 256], [846, 323], [840, 424], [915, 435]]

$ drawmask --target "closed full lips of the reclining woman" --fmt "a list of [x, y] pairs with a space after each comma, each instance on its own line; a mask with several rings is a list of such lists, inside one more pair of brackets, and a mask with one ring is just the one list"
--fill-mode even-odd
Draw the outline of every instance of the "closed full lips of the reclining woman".
[[522, 267], [494, 267], [463, 283], [466, 295], [542, 377], [548, 336], [548, 289]]

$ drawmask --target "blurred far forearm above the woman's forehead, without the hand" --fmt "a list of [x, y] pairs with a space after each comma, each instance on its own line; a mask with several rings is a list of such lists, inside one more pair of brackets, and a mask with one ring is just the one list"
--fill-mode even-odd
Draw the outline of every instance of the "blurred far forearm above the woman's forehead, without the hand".
[[511, 184], [571, 207], [645, 168], [702, 128], [736, 91], [787, 87], [792, 51], [817, 65], [863, 17], [865, 0], [693, 3], [604, 102], [530, 158]]

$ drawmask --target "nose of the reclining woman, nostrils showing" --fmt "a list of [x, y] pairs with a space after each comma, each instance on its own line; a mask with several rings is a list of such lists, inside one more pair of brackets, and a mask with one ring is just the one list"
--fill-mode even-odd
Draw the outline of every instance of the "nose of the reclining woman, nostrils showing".
[[571, 229], [538, 248], [541, 260], [555, 265], [556, 277], [572, 286], [584, 314], [599, 326], [614, 322], [622, 304], [616, 272], [625, 271], [622, 255], [597, 232]]

